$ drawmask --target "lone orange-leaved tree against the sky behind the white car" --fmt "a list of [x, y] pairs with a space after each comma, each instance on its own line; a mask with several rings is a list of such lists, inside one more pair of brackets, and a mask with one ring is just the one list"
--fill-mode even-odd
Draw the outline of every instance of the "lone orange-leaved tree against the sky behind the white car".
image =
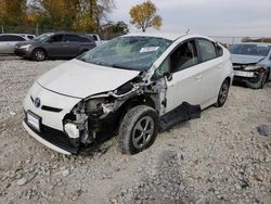
[[131, 21], [137, 28], [145, 31], [149, 27], [159, 29], [162, 26], [162, 17], [156, 14], [156, 7], [150, 0], [142, 4], [137, 4], [130, 10]]

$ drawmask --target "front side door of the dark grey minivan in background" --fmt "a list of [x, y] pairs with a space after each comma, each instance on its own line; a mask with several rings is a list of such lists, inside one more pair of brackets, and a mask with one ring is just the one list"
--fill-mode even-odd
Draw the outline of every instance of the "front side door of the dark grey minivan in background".
[[55, 34], [44, 42], [43, 46], [49, 56], [63, 58], [67, 54], [63, 48], [63, 34]]

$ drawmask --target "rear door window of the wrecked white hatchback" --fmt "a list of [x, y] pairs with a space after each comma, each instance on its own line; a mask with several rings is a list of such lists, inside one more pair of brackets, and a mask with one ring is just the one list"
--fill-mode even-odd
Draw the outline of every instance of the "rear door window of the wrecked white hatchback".
[[205, 39], [198, 39], [197, 42], [203, 62], [217, 58], [217, 51], [211, 41]]

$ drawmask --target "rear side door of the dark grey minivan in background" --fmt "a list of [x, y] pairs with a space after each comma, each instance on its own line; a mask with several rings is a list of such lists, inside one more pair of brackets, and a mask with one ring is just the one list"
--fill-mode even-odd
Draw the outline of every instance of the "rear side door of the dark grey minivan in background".
[[63, 50], [69, 58], [75, 58], [80, 54], [80, 37], [74, 34], [64, 36]]

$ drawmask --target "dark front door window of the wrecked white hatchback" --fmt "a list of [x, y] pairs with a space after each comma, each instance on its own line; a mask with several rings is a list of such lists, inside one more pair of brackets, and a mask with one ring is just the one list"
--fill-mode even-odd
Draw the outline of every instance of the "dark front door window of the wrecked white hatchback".
[[171, 72], [178, 72], [198, 63], [195, 41], [186, 41], [170, 55]]

